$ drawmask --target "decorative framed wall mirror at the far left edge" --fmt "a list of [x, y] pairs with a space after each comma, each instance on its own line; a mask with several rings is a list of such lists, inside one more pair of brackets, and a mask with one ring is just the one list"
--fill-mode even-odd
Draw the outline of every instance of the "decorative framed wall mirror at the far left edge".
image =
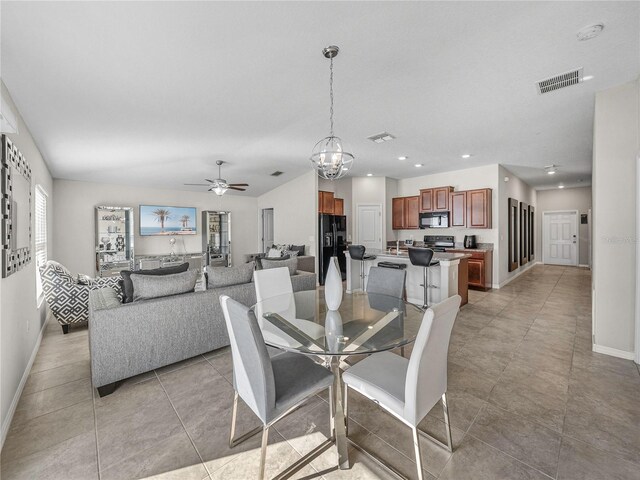
[[2, 277], [31, 261], [31, 166], [2, 135]]

